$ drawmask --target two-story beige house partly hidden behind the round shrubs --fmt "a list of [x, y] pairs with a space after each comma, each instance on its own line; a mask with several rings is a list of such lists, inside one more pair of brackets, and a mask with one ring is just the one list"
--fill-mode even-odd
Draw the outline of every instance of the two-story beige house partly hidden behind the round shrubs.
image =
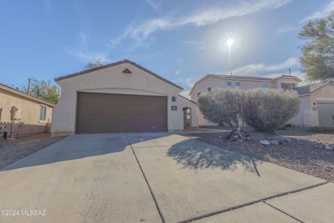
[[[213, 89], [239, 88], [242, 90], [248, 89], [294, 89], [302, 80], [298, 77], [282, 75], [279, 77], [251, 77], [251, 76], [233, 76], [233, 75], [205, 75], [193, 85], [189, 95], [191, 100], [197, 102], [198, 97], [202, 93], [207, 93]], [[216, 125], [207, 121], [197, 111], [198, 125]]]

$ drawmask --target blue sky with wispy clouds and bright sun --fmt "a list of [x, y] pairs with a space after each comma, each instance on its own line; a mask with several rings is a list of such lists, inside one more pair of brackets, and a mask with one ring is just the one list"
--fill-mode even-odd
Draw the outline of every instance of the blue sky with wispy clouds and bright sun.
[[[298, 33], [334, 0], [0, 1], [0, 83], [129, 59], [189, 90], [209, 73], [303, 79]], [[230, 47], [228, 39], [233, 40]]]

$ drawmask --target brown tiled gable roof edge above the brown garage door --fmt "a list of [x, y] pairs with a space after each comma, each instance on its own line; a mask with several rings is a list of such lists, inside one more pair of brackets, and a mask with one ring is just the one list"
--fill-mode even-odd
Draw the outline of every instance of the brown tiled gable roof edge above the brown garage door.
[[79, 75], [84, 75], [84, 74], [88, 74], [90, 72], [94, 72], [96, 70], [101, 70], [101, 69], [104, 69], [104, 68], [110, 68], [112, 66], [117, 66], [117, 65], [120, 65], [122, 63], [130, 63], [132, 64], [132, 66], [135, 66], [136, 68], [139, 68], [145, 72], [147, 72], [148, 74], [154, 76], [154, 77], [157, 77], [158, 79], [161, 79], [162, 81], [172, 85], [172, 86], [175, 86], [177, 89], [180, 89], [180, 90], [183, 90], [182, 86], [179, 86], [173, 82], [170, 82], [168, 79], [165, 79], [164, 77], [161, 77], [160, 75], [157, 75], [156, 73], [144, 68], [143, 66], [140, 66], [138, 65], [137, 63], [134, 63], [132, 61], [129, 61], [129, 60], [123, 60], [123, 61], [117, 61], [115, 63], [109, 63], [109, 64], [106, 64], [104, 66], [100, 66], [100, 67], [97, 67], [97, 68], [91, 68], [91, 69], [88, 69], [88, 70], [84, 70], [84, 71], [81, 71], [81, 72], [75, 72], [74, 74], [72, 75], [65, 75], [63, 77], [57, 77], [54, 79], [55, 82], [58, 82], [58, 81], [61, 81], [63, 79], [67, 79], [67, 78], [71, 78], [71, 77], [77, 77]]

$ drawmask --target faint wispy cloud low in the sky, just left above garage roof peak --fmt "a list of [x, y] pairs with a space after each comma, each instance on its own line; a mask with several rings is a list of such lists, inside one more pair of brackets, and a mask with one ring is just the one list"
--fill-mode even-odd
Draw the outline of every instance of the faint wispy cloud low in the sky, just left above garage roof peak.
[[102, 62], [109, 61], [108, 52], [95, 52], [88, 48], [87, 35], [85, 33], [79, 33], [79, 47], [76, 49], [65, 48], [66, 52], [77, 59], [84, 62], [91, 62], [100, 59]]

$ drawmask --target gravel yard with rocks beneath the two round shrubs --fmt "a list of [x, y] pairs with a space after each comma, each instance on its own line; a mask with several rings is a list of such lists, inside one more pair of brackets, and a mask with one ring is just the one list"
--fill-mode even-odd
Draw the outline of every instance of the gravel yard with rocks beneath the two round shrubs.
[[[305, 128], [287, 128], [278, 130], [276, 135], [261, 132], [250, 132], [252, 139], [231, 142], [222, 139], [221, 132], [189, 133], [189, 137], [204, 141], [208, 144], [235, 151], [258, 160], [272, 162], [282, 167], [322, 178], [334, 180], [334, 150], [329, 151], [324, 146], [334, 146], [334, 134], [317, 134], [308, 132]], [[260, 144], [260, 140], [289, 137], [291, 142], [287, 145], [269, 146]]]

